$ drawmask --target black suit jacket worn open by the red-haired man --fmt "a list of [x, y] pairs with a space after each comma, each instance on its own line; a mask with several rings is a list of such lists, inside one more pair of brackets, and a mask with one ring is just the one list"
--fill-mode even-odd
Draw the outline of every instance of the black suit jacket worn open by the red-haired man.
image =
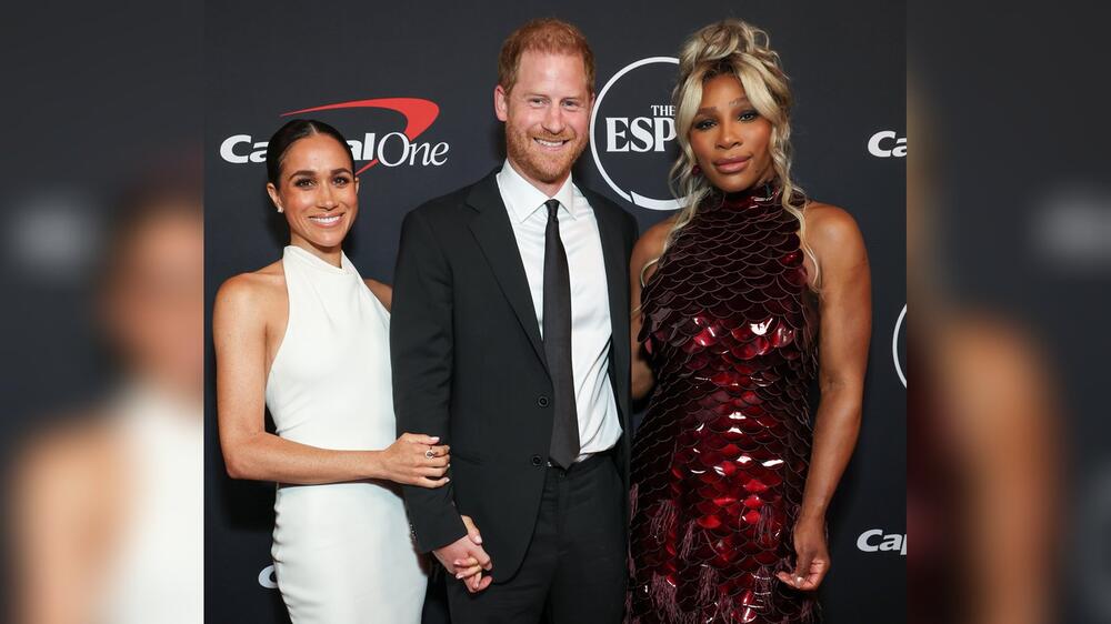
[[[404, 487], [417, 544], [428, 552], [454, 542], [467, 534], [460, 514], [469, 515], [497, 581], [513, 575], [532, 535], [551, 443], [552, 383], [496, 173], [406, 215], [390, 345], [399, 434], [439, 435], [451, 445], [447, 485]], [[638, 229], [613, 202], [580, 190], [602, 242], [613, 330], [609, 374], [623, 430], [617, 457], [628, 489], [629, 256]]]

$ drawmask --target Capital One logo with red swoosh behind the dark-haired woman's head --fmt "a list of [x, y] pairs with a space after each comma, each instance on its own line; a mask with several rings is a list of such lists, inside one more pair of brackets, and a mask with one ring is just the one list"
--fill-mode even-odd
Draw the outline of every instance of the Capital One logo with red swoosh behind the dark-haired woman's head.
[[[386, 167], [440, 167], [448, 160], [448, 143], [419, 143], [417, 138], [424, 133], [440, 114], [436, 102], [419, 98], [379, 98], [374, 100], [354, 100], [338, 104], [326, 104], [290, 112], [279, 117], [291, 117], [320, 111], [337, 111], [347, 109], [379, 109], [401, 113], [406, 119], [404, 128], [379, 137], [378, 132], [362, 132], [362, 140], [349, 139], [351, 155], [356, 162], [367, 164], [356, 171], [356, 175], [376, 164]], [[344, 132], [347, 134], [347, 132]], [[232, 164], [248, 162], [266, 162], [267, 141], [258, 141], [250, 134], [232, 134], [220, 143], [220, 158]]]

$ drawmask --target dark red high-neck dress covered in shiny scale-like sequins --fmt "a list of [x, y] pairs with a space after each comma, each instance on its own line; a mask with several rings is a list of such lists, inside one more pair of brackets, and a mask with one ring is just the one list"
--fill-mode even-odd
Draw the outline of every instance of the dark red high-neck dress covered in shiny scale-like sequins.
[[632, 453], [629, 621], [818, 621], [792, 527], [813, 436], [815, 305], [764, 184], [703, 202], [641, 294], [655, 390]]

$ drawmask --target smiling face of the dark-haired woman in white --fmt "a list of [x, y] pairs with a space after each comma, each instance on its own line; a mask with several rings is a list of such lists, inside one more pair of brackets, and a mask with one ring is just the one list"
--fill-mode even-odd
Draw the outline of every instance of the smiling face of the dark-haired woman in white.
[[267, 192], [286, 214], [290, 243], [310, 251], [339, 248], [359, 212], [359, 179], [347, 145], [328, 134], [293, 142], [278, 183], [267, 184]]

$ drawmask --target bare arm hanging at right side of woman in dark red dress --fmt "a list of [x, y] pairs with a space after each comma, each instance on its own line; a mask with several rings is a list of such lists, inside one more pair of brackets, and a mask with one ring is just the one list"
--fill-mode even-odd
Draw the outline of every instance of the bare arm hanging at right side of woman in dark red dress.
[[821, 268], [821, 402], [794, 530], [798, 562], [791, 581], [812, 590], [829, 570], [825, 511], [860, 431], [872, 300], [868, 254], [852, 217], [839, 208], [815, 204], [808, 208], [807, 219], [808, 240]]

